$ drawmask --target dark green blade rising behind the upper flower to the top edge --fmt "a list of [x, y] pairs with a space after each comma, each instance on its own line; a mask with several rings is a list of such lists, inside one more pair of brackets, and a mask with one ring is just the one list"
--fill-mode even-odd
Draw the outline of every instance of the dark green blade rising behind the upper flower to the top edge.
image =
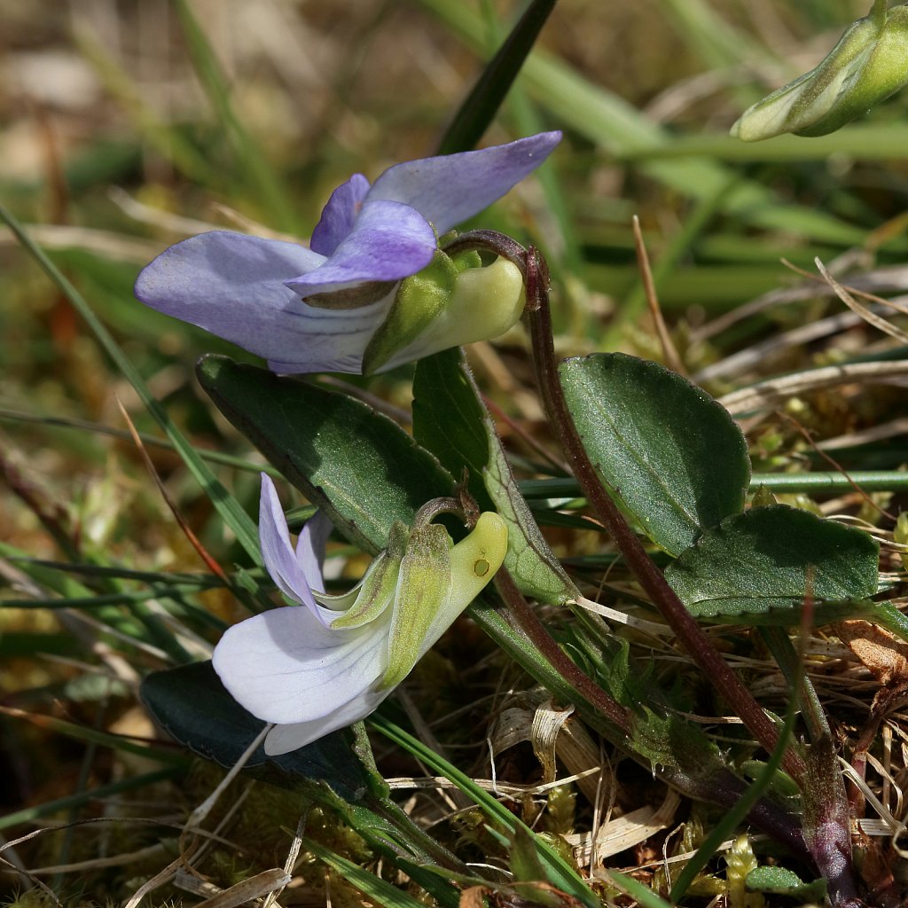
[[476, 146], [482, 133], [498, 113], [505, 95], [517, 78], [556, 0], [532, 0], [520, 16], [508, 39], [489, 60], [467, 99], [439, 142], [438, 154], [467, 152]]

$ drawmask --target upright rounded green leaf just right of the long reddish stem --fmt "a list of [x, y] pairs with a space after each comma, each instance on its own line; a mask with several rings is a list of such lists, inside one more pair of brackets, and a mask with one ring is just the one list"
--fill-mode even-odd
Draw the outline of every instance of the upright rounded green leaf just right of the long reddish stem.
[[621, 353], [566, 360], [559, 371], [597, 473], [657, 546], [679, 555], [744, 508], [745, 439], [706, 391]]

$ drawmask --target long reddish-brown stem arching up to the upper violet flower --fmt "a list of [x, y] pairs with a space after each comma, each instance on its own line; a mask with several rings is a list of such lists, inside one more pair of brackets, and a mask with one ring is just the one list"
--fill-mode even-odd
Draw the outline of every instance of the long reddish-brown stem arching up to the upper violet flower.
[[[551, 313], [548, 307], [548, 269], [538, 252], [529, 249], [526, 258], [527, 313], [533, 341], [533, 359], [539, 393], [542, 396], [548, 419], [555, 428], [568, 461], [597, 517], [607, 528], [628, 567], [634, 572], [640, 586], [653, 600], [656, 607], [675, 632], [681, 645], [693, 656], [696, 664], [716, 686], [719, 693], [735, 713], [741, 717], [751, 733], [772, 753], [778, 740], [778, 729], [766, 716], [741, 680], [722, 658], [703, 630], [691, 617], [675, 590], [646, 554], [640, 540], [630, 528], [624, 515], [608, 495], [596, 469], [587, 457], [577, 427], [571, 418], [568, 404], [558, 380], [558, 366], [552, 342]], [[804, 783], [806, 767], [793, 748], [785, 753], [785, 771], [799, 784]]]

